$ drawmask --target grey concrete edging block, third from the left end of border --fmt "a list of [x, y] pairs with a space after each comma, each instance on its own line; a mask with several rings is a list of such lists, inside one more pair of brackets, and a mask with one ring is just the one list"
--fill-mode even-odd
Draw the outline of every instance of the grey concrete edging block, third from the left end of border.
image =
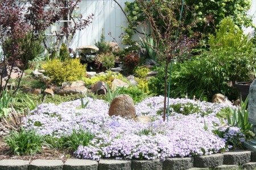
[[98, 163], [95, 160], [84, 160], [84, 159], [68, 159], [64, 166], [63, 170], [97, 170]]

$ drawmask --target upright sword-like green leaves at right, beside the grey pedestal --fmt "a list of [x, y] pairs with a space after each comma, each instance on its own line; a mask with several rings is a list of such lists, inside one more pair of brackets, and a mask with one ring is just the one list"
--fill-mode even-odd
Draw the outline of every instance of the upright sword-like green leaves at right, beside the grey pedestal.
[[240, 127], [241, 132], [246, 136], [246, 139], [253, 139], [250, 132], [251, 123], [248, 122], [248, 110], [246, 110], [248, 100], [249, 96], [247, 96], [245, 102], [241, 100], [241, 107], [238, 109], [232, 109], [232, 107], [229, 107], [232, 112], [232, 117], [230, 118], [228, 114], [228, 125]]

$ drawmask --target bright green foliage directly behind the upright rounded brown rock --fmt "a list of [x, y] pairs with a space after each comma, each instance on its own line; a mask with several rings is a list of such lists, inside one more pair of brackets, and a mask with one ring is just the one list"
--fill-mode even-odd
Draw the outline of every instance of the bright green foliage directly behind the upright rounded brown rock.
[[129, 95], [131, 98], [133, 98], [134, 104], [137, 104], [146, 98], [143, 90], [140, 89], [138, 86], [129, 86], [128, 88], [123, 86], [121, 88], [118, 88], [118, 93]]

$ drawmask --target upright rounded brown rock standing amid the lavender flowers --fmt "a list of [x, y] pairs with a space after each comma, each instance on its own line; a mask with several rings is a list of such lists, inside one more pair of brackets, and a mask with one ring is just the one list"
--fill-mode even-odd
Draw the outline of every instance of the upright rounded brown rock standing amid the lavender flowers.
[[133, 98], [127, 94], [120, 94], [113, 99], [109, 107], [109, 115], [121, 116], [134, 119], [136, 115]]

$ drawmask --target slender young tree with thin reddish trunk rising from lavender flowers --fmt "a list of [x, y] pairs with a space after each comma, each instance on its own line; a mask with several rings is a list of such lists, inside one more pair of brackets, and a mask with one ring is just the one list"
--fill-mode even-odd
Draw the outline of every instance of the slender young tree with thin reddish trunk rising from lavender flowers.
[[152, 49], [158, 54], [159, 61], [165, 64], [163, 114], [163, 120], [165, 121], [167, 94], [170, 92], [170, 82], [168, 86], [168, 80], [170, 81], [171, 78], [171, 72], [168, 78], [168, 69], [172, 68], [172, 64], [176, 60], [189, 57], [191, 49], [197, 44], [196, 36], [191, 38], [186, 36], [195, 22], [184, 26], [189, 7], [184, 5], [182, 0], [137, 0], [135, 3], [143, 10], [144, 18], [146, 19], [145, 24], [150, 25], [150, 36], [152, 36], [157, 44]]

